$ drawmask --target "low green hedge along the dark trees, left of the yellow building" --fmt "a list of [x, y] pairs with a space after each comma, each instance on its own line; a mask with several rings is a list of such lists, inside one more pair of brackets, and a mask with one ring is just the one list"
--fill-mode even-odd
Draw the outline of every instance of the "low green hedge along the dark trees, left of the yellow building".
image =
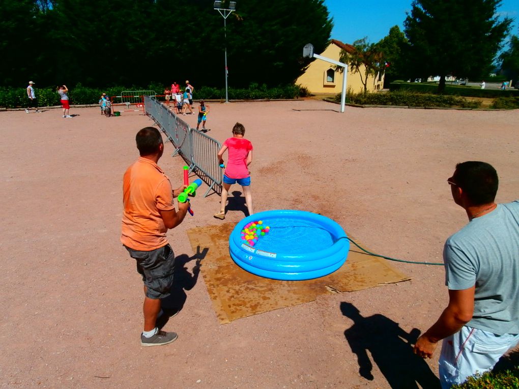
[[[108, 96], [118, 96], [122, 91], [127, 90], [153, 90], [156, 94], [163, 94], [163, 86], [149, 85], [142, 87], [111, 87], [107, 89], [87, 88], [78, 84], [74, 88], [70, 88], [69, 98], [71, 104], [97, 104], [101, 93]], [[53, 106], [60, 105], [60, 96], [54, 88], [35, 88], [38, 105]], [[305, 88], [288, 85], [278, 88], [267, 88], [266, 86], [258, 86], [252, 84], [248, 89], [228, 89], [230, 100], [259, 100], [259, 99], [295, 99], [308, 95]], [[217, 89], [210, 87], [195, 88], [194, 98], [199, 99], [225, 99], [225, 89]], [[117, 101], [116, 101], [117, 102]], [[28, 103], [27, 92], [25, 88], [0, 88], [0, 107], [16, 108], [25, 107]]]

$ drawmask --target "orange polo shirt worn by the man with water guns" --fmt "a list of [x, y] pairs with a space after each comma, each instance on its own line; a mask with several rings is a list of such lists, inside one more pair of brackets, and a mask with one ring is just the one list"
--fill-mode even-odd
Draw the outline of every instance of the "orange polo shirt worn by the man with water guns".
[[160, 211], [171, 211], [173, 190], [168, 176], [146, 158], [131, 165], [122, 178], [121, 242], [139, 251], [152, 251], [168, 244], [168, 229]]

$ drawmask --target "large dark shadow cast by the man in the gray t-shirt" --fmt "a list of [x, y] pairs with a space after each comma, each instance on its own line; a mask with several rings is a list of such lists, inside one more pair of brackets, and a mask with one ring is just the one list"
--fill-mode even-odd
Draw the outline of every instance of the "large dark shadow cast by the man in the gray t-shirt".
[[344, 331], [344, 336], [351, 351], [357, 354], [362, 377], [373, 380], [373, 365], [369, 357], [371, 354], [373, 362], [393, 389], [440, 388], [440, 380], [429, 365], [413, 353], [411, 344], [420, 335], [417, 328], [413, 328], [408, 334], [398, 323], [384, 315], [362, 316], [348, 302], [340, 303], [340, 311], [353, 321], [353, 325]]

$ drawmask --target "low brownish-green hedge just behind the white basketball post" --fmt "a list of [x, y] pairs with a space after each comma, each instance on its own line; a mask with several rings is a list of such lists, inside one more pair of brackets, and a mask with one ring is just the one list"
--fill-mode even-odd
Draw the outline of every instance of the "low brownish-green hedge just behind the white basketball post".
[[[335, 96], [340, 101], [340, 93]], [[376, 93], [348, 93], [347, 101], [362, 105], [398, 105], [409, 107], [461, 107], [479, 108], [480, 101], [471, 101], [459, 96], [417, 93], [410, 91], [376, 92]]]

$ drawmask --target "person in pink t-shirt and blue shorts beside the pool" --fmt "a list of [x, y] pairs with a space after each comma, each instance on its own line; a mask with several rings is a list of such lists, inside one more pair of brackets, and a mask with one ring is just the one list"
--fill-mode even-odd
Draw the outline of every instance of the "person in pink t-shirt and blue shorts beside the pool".
[[233, 184], [240, 184], [245, 196], [245, 204], [249, 215], [252, 211], [252, 195], [251, 195], [251, 173], [249, 172], [249, 165], [252, 162], [252, 143], [245, 139], [245, 127], [243, 124], [236, 123], [233, 127], [233, 137], [228, 138], [218, 151], [218, 162], [224, 163], [223, 155], [225, 150], [229, 150], [227, 158], [227, 166], [224, 172], [224, 179], [222, 183], [222, 200], [220, 212], [214, 214], [217, 219], [225, 219], [225, 205], [227, 203], [227, 196], [230, 186]]

